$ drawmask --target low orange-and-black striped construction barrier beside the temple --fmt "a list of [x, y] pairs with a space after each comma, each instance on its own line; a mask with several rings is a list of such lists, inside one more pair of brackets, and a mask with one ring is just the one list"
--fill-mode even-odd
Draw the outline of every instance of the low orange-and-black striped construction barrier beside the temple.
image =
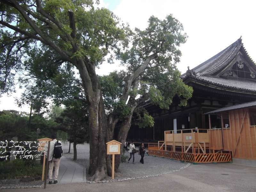
[[220, 162], [231, 162], [230, 153], [184, 153], [175, 151], [164, 151], [157, 149], [148, 149], [148, 155], [165, 157], [170, 159], [176, 159], [194, 163], [220, 163]]

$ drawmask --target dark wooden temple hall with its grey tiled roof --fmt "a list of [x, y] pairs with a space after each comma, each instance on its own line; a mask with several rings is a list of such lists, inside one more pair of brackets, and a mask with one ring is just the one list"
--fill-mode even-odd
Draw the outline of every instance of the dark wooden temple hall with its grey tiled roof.
[[[140, 129], [133, 125], [128, 141], [155, 142], [164, 140], [164, 131], [214, 129], [221, 127], [220, 116], [204, 115], [215, 109], [256, 100], [256, 65], [239, 38], [226, 49], [181, 75], [183, 82], [194, 89], [186, 107], [179, 107], [173, 98], [169, 110], [150, 101], [140, 105], [154, 117], [154, 127]], [[226, 118], [228, 119], [228, 118]], [[228, 127], [228, 120], [223, 117]], [[227, 122], [226, 122], [227, 121]]]

